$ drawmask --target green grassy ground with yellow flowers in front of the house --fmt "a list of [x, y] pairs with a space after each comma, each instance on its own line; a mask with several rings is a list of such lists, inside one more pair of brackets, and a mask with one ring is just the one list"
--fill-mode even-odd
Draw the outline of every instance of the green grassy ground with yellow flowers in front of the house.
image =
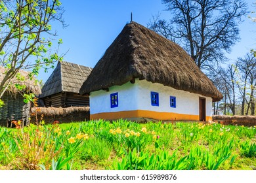
[[98, 120], [1, 127], [0, 169], [251, 169], [255, 147], [255, 127], [235, 125]]

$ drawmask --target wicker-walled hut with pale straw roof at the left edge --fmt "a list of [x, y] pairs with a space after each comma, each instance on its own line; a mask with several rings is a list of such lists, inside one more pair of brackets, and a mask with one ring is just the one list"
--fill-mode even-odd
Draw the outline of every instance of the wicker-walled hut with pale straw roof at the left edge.
[[[5, 76], [6, 69], [0, 66], [0, 82]], [[24, 81], [20, 82], [16, 77], [11, 80], [11, 86], [3, 94], [1, 100], [5, 103], [0, 107], [0, 125], [10, 126], [12, 120], [20, 120], [24, 125], [29, 124], [31, 103], [24, 103], [24, 93], [41, 93], [39, 84], [35, 84], [35, 80], [30, 80], [28, 72], [19, 71], [20, 77], [24, 77]], [[26, 86], [23, 91], [18, 90], [14, 84]]]

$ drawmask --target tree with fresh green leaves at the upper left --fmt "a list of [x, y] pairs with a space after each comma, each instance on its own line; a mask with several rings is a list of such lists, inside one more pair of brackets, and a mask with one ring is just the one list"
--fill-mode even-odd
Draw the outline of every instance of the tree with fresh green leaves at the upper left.
[[[7, 68], [0, 83], [0, 99], [20, 69], [37, 75], [41, 67], [53, 67], [61, 59], [51, 50], [51, 22], [64, 25], [64, 10], [59, 0], [0, 1], [0, 66]], [[58, 44], [62, 41], [58, 41]]]

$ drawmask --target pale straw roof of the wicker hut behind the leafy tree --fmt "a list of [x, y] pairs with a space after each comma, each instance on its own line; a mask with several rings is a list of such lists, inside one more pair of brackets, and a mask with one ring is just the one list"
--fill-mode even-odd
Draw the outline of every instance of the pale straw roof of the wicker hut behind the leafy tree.
[[[2, 82], [5, 73], [8, 71], [5, 67], [0, 66], [0, 82]], [[14, 86], [14, 84], [20, 84], [26, 86], [25, 90], [22, 92], [30, 92], [34, 93], [35, 95], [39, 95], [41, 93], [41, 89], [38, 82], [35, 82], [35, 78], [30, 79], [29, 72], [20, 70], [18, 71], [20, 73], [20, 76], [24, 77], [24, 81], [20, 81], [14, 76], [11, 80], [11, 86], [7, 88], [7, 92], [11, 93], [12, 95], [16, 95], [16, 93], [19, 92], [19, 90]]]

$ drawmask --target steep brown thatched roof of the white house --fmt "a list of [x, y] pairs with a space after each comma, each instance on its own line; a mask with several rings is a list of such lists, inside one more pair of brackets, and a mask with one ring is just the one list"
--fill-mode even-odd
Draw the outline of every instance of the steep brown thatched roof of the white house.
[[135, 78], [199, 93], [219, 101], [223, 95], [181, 46], [131, 22], [98, 61], [80, 94], [106, 90]]

